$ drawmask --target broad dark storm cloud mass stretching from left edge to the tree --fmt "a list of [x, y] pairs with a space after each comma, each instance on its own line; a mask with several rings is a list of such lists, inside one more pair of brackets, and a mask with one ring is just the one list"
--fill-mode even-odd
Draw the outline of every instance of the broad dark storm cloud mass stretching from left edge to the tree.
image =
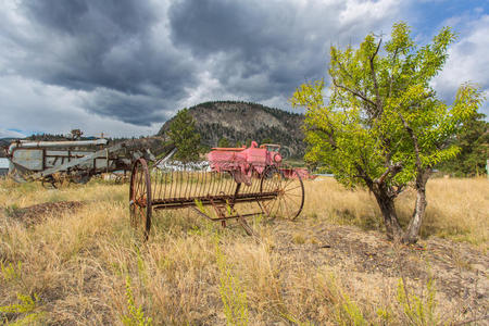
[[355, 42], [396, 11], [391, 0], [348, 3], [12, 1], [13, 14], [0, 12], [0, 76], [59, 86], [87, 112], [139, 126], [204, 100], [283, 105], [326, 75], [330, 43]]

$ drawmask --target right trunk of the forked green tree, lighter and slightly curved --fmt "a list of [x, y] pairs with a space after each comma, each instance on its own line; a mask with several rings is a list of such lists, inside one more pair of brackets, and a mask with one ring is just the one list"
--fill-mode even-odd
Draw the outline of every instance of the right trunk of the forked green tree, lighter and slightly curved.
[[418, 240], [423, 217], [425, 216], [426, 206], [428, 205], [428, 201], [426, 200], [426, 183], [428, 181], [430, 174], [431, 168], [426, 168], [416, 176], [416, 203], [408, 229], [402, 237], [402, 242], [404, 243], [416, 243]]

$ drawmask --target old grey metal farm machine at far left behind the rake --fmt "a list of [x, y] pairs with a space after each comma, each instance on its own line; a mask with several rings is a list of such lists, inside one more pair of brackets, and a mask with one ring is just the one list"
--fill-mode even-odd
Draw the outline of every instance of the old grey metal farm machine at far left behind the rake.
[[154, 159], [148, 150], [130, 141], [108, 146], [108, 139], [12, 142], [7, 149], [9, 175], [16, 181], [40, 180], [55, 187], [61, 175], [70, 181], [85, 184], [104, 172], [129, 171], [135, 160]]

